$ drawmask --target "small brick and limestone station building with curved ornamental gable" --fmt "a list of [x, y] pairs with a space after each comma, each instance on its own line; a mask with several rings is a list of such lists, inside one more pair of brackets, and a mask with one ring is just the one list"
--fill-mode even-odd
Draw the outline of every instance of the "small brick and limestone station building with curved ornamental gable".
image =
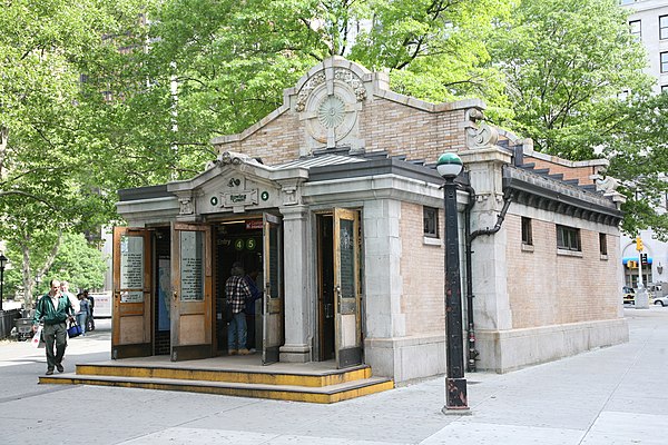
[[[369, 364], [395, 382], [445, 372], [443, 180], [455, 151], [466, 359], [508, 372], [628, 339], [620, 196], [605, 160], [570, 162], [428, 103], [342, 58], [281, 108], [213, 140], [198, 176], [120, 190], [114, 358], [226, 354], [223, 285], [258, 268], [258, 360]], [[464, 304], [464, 307], [466, 304]]]

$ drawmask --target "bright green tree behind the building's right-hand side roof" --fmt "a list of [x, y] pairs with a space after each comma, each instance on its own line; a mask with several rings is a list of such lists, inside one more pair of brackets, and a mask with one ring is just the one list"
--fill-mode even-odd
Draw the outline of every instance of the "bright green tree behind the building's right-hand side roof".
[[609, 159], [607, 174], [628, 198], [622, 229], [666, 234], [666, 216], [651, 209], [666, 190], [666, 98], [650, 95], [627, 12], [616, 0], [531, 0], [511, 17], [489, 39], [513, 112], [498, 123], [532, 138], [538, 151]]

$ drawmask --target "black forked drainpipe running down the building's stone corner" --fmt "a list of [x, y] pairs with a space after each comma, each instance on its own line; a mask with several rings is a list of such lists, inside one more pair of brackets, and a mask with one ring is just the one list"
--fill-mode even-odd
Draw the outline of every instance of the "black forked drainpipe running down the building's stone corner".
[[466, 319], [468, 319], [468, 349], [469, 349], [469, 359], [466, 362], [466, 370], [469, 373], [474, 373], [477, 370], [475, 360], [480, 355], [480, 352], [475, 348], [475, 324], [473, 322], [473, 278], [472, 278], [472, 267], [471, 267], [471, 255], [473, 250], [471, 249], [471, 245], [473, 239], [478, 238], [481, 235], [494, 235], [497, 231], [501, 229], [501, 225], [503, 224], [503, 219], [505, 218], [505, 214], [508, 212], [508, 208], [510, 207], [510, 202], [512, 201], [512, 194], [510, 189], [507, 189], [503, 194], [503, 208], [501, 212], [497, 216], [497, 224], [493, 228], [485, 228], [482, 230], [475, 230], [471, 233], [471, 209], [475, 205], [475, 189], [470, 185], [462, 185], [462, 188], [469, 194], [469, 204], [464, 209], [464, 239], [465, 239], [465, 263], [466, 263]]

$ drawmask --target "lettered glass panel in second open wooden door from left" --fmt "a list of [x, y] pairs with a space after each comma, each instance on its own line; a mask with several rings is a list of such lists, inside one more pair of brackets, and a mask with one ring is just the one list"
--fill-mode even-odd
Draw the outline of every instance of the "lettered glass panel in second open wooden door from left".
[[180, 300], [204, 300], [204, 234], [186, 231], [180, 234]]

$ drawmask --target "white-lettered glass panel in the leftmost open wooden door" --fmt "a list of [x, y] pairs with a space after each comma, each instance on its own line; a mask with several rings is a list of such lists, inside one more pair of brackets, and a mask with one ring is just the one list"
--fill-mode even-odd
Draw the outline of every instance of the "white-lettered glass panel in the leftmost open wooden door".
[[120, 238], [121, 303], [144, 301], [144, 237]]

